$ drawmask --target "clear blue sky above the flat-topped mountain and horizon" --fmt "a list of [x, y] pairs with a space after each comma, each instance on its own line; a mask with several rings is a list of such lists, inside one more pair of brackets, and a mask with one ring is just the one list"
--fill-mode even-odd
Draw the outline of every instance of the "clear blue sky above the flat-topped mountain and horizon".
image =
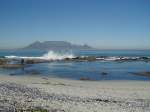
[[36, 40], [150, 49], [150, 0], [0, 0], [0, 48]]

